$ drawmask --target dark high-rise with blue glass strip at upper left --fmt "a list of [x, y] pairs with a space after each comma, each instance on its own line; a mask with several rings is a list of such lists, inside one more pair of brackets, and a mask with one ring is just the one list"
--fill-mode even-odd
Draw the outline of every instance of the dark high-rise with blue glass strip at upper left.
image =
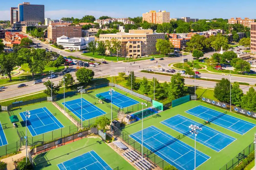
[[15, 10], [17, 10], [16, 20], [23, 25], [38, 25], [39, 22], [41, 22], [42, 24], [45, 23], [45, 6], [44, 5], [33, 5], [33, 4], [30, 4], [29, 2], [23, 2], [23, 4], [18, 5], [18, 8], [12, 7], [11, 20], [13, 18], [13, 21], [14, 21]]

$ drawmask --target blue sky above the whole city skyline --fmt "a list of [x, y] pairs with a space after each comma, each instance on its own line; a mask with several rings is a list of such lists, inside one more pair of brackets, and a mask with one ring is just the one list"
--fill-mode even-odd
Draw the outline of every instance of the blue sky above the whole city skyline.
[[[2, 1], [2, 0], [1, 0]], [[17, 7], [24, 0], [3, 1], [0, 5], [0, 20], [9, 20], [10, 7]], [[149, 10], [166, 10], [170, 18], [191, 17], [199, 19], [249, 17], [256, 18], [255, 0], [27, 0], [31, 4], [45, 5], [45, 18], [81, 18], [93, 15], [111, 17], [136, 17]], [[244, 2], [244, 3], [243, 3]]]

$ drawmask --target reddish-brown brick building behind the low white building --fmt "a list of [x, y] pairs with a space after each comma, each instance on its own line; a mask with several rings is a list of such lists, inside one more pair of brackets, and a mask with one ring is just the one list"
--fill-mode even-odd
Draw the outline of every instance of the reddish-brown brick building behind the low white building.
[[48, 25], [47, 41], [56, 42], [57, 37], [65, 35], [67, 37], [82, 37], [82, 27], [73, 26], [70, 23], [50, 22]]

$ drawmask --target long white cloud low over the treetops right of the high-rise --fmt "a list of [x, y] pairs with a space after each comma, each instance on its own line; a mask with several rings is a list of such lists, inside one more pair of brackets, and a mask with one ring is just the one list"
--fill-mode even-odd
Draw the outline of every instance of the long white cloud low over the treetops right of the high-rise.
[[53, 10], [53, 11], [45, 11], [45, 18], [51, 19], [60, 19], [62, 17], [74, 17], [74, 18], [82, 18], [85, 15], [92, 15], [96, 19], [100, 16], [111, 16], [111, 17], [124, 17], [116, 12], [111, 11], [88, 11], [88, 10]]

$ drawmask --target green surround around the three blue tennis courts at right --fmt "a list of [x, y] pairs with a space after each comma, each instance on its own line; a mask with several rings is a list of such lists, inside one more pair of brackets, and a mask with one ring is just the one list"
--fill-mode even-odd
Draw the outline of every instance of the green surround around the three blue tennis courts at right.
[[[214, 107], [212, 105], [202, 103], [200, 101], [189, 101], [187, 103], [184, 103], [184, 104], [181, 104], [181, 105], [176, 106], [174, 108], [163, 111], [163, 112], [159, 113], [157, 116], [151, 116], [151, 117], [148, 117], [148, 118], [144, 119], [143, 120], [143, 128], [147, 128], [147, 127], [153, 125], [153, 126], [159, 128], [159, 129], [163, 130], [164, 132], [168, 133], [169, 135], [172, 135], [173, 137], [177, 137], [179, 135], [180, 135], [180, 137], [182, 137], [183, 136], [182, 134], [178, 133], [177, 131], [175, 131], [175, 130], [173, 130], [173, 129], [171, 129], [171, 128], [163, 125], [163, 124], [161, 124], [160, 122], [165, 120], [165, 119], [168, 119], [168, 118], [170, 118], [174, 115], [180, 114], [180, 115], [183, 115], [183, 116], [185, 116], [189, 119], [192, 119], [192, 120], [194, 120], [198, 123], [203, 123], [204, 120], [202, 120], [202, 119], [200, 119], [196, 116], [190, 115], [188, 113], [185, 113], [186, 110], [194, 108], [198, 105], [206, 106], [208, 108], [211, 108], [211, 109], [214, 109], [214, 110], [217, 110], [217, 111], [220, 111], [220, 112], [225, 111], [221, 108], [217, 108], [217, 107]], [[245, 117], [245, 116], [242, 116], [240, 114], [230, 113], [230, 112], [228, 112], [227, 114], [232, 115], [234, 117], [237, 117], [239, 119], [242, 119], [242, 120], [245, 120], [245, 121], [256, 124], [255, 119]], [[212, 124], [207, 124], [205, 126], [216, 129], [216, 130], [218, 130], [222, 133], [225, 133], [229, 136], [232, 136], [232, 137], [236, 138], [237, 140], [232, 142], [230, 145], [228, 145], [226, 148], [224, 148], [220, 152], [216, 152], [216, 151], [208, 148], [207, 146], [202, 145], [201, 143], [197, 142], [196, 149], [211, 157], [205, 163], [198, 166], [197, 167], [198, 170], [220, 169], [227, 162], [229, 162], [232, 158], [236, 157], [238, 155], [238, 153], [241, 152], [244, 148], [248, 147], [248, 145], [253, 141], [252, 136], [254, 135], [254, 132], [256, 130], [256, 127], [254, 127], [250, 131], [248, 131], [246, 134], [240, 135], [240, 134], [232, 132], [228, 129], [225, 129], [223, 127], [215, 125], [213, 123]], [[127, 125], [123, 130], [125, 132], [128, 132], [129, 134], [133, 134], [133, 133], [137, 132], [140, 129], [141, 129], [141, 121], [138, 121], [136, 123], [132, 123], [131, 125]], [[204, 129], [204, 126], [202, 127], [202, 129]], [[189, 128], [188, 128], [188, 130], [189, 130]], [[200, 132], [199, 132], [198, 135], [200, 135]], [[183, 137], [179, 140], [185, 142], [186, 144], [190, 145], [193, 148], [195, 146], [194, 140], [187, 137], [187, 136], [185, 136], [185, 137]]]

